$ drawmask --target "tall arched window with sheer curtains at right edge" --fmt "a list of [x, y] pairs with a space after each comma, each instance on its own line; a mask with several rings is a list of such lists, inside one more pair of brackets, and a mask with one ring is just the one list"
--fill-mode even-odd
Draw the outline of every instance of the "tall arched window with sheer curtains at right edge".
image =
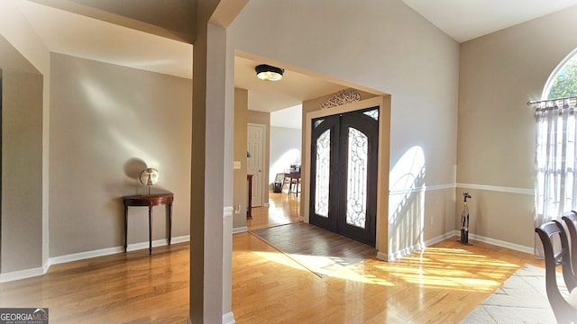
[[[536, 103], [535, 226], [577, 210], [577, 49], [554, 69]], [[543, 257], [536, 238], [535, 254]]]

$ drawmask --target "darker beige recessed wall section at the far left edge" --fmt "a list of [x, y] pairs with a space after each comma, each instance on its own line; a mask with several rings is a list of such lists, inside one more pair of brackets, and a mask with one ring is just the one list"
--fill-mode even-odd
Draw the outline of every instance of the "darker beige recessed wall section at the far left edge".
[[42, 265], [42, 76], [2, 73], [0, 273]]

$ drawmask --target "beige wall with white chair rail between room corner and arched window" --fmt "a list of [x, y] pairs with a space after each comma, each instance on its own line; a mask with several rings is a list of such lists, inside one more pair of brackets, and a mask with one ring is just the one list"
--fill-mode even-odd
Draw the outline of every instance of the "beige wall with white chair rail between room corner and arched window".
[[554, 68], [573, 49], [577, 7], [461, 45], [455, 218], [463, 191], [472, 234], [530, 251], [534, 243], [534, 109]]

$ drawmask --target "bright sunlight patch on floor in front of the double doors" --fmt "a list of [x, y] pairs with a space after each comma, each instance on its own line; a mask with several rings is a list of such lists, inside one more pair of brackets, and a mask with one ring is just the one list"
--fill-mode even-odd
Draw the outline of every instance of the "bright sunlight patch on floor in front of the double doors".
[[[394, 262], [376, 258], [354, 265], [330, 256], [252, 252], [267, 260], [310, 271], [320, 277], [334, 277], [362, 284], [392, 286], [398, 279], [420, 287], [446, 288], [469, 292], [492, 292], [518, 266], [458, 248], [427, 247]], [[468, 271], [462, 270], [466, 265]], [[371, 269], [366, 272], [365, 266]], [[474, 269], [472, 271], [471, 269]], [[392, 278], [395, 277], [393, 280]], [[390, 279], [390, 280], [389, 280]]]

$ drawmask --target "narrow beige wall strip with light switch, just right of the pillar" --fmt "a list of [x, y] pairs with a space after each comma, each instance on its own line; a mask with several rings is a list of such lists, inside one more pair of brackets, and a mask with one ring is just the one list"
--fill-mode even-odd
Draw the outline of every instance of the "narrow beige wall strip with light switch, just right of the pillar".
[[234, 89], [234, 161], [241, 162], [241, 168], [234, 170], [233, 207], [240, 205], [240, 213], [233, 217], [233, 228], [242, 229], [246, 226], [246, 119], [247, 119], [248, 91]]

